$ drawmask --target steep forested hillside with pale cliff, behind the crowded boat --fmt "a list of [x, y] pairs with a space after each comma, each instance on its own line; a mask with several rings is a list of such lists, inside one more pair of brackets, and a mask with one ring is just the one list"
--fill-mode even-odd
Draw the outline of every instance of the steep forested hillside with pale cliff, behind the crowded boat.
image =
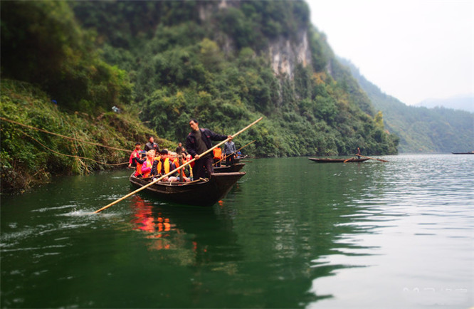
[[333, 78], [339, 65], [303, 1], [90, 1], [74, 10], [98, 31], [106, 61], [130, 73], [140, 117], [164, 137], [183, 140], [190, 117], [228, 133], [264, 115], [243, 135], [242, 144], [257, 140], [253, 155], [396, 153], [357, 83]]

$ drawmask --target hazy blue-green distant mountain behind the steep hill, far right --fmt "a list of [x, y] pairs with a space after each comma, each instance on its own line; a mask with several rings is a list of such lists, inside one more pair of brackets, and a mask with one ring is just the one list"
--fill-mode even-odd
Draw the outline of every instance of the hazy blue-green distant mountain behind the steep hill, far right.
[[399, 152], [449, 153], [474, 150], [473, 113], [405, 105], [382, 93], [350, 61], [339, 58], [339, 62], [351, 70], [376, 110], [381, 110], [386, 129], [400, 137]]

